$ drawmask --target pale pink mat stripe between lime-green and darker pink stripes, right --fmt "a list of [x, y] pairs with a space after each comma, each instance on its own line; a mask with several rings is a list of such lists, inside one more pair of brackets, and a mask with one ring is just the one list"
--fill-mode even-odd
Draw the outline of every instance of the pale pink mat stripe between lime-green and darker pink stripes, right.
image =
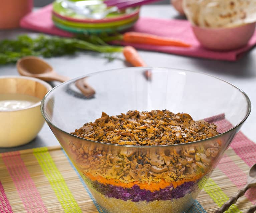
[[[246, 185], [247, 174], [243, 172], [229, 156], [224, 155], [217, 165], [217, 168], [220, 169], [239, 189]], [[256, 190], [254, 188], [248, 189], [245, 193], [245, 197], [251, 201], [252, 204], [256, 204]]]

